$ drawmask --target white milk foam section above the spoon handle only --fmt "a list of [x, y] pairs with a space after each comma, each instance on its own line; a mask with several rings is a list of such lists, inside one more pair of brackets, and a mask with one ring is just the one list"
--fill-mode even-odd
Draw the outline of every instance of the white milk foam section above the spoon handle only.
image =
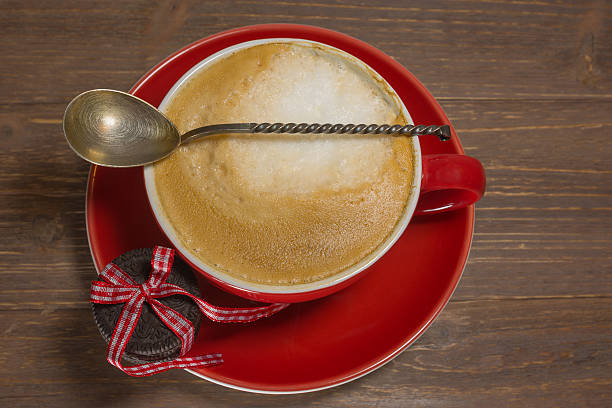
[[399, 114], [359, 67], [316, 48], [293, 47], [274, 55], [269, 68], [249, 81], [239, 105], [253, 121], [375, 123]]

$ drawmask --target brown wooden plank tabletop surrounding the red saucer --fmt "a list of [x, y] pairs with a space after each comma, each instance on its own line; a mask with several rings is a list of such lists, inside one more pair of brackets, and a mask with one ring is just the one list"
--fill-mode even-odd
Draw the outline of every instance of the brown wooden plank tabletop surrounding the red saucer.
[[[0, 405], [612, 406], [612, 4], [0, 2]], [[438, 99], [487, 171], [450, 303], [390, 364], [298, 396], [110, 367], [88, 304], [89, 166], [61, 119], [181, 46], [290, 22], [367, 41]]]

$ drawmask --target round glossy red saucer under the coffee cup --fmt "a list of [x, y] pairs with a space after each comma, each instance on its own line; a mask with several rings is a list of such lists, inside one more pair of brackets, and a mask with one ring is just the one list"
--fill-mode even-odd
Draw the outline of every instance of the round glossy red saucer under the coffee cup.
[[[157, 106], [174, 82], [206, 56], [260, 38], [301, 38], [343, 49], [390, 83], [415, 123], [448, 123], [427, 90], [389, 56], [354, 38], [310, 26], [251, 26], [197, 41], [153, 68], [132, 93]], [[423, 154], [463, 153], [457, 138], [420, 141]], [[131, 249], [170, 245], [149, 209], [142, 168], [92, 166], [86, 217], [98, 269]], [[334, 295], [291, 305], [248, 325], [203, 322], [191, 354], [220, 352], [225, 363], [193, 373], [248, 391], [295, 393], [371, 372], [408, 347], [448, 302], [468, 256], [473, 221], [473, 206], [415, 217], [363, 278]], [[204, 278], [200, 284], [202, 296], [217, 305], [251, 303]]]

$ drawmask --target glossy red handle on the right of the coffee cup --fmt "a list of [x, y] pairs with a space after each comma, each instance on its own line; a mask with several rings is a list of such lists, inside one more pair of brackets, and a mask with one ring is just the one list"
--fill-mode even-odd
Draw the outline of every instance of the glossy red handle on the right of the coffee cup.
[[421, 194], [415, 215], [456, 210], [474, 204], [484, 194], [482, 164], [462, 154], [431, 154], [421, 158]]

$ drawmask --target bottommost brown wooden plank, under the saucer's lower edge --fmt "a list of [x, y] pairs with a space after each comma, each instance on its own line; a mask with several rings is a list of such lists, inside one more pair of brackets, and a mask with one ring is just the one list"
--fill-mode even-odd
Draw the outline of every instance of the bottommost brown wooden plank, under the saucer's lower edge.
[[0, 395], [20, 407], [605, 406], [611, 306], [609, 298], [454, 302], [373, 374], [298, 396], [221, 389], [176, 370], [130, 378], [106, 362], [89, 309], [0, 312], [11, 322], [0, 335]]

